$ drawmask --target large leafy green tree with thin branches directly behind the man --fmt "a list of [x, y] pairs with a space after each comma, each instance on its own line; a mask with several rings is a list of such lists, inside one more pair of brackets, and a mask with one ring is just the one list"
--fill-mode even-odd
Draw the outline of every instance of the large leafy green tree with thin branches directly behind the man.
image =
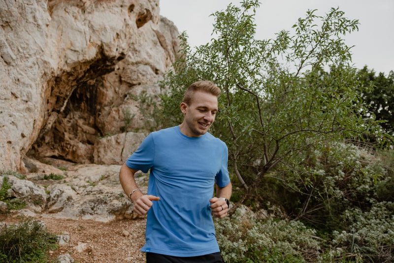
[[[162, 119], [165, 125], [178, 124], [185, 89], [194, 81], [212, 80], [223, 92], [211, 132], [228, 144], [230, 170], [244, 189], [232, 198], [239, 203], [269, 198], [279, 188], [320, 198], [311, 153], [330, 153], [335, 151], [330, 145], [346, 139], [392, 139], [373, 115], [363, 117], [367, 106], [357, 69], [349, 65], [351, 47], [341, 38], [358, 30], [359, 22], [337, 8], [323, 16], [308, 10], [292, 33], [258, 40], [259, 6], [257, 0], [245, 0], [241, 7], [230, 4], [216, 12], [214, 37], [195, 50], [186, 33], [181, 35], [182, 59], [163, 82], [170, 92], [162, 97]], [[323, 74], [327, 66], [331, 70]], [[309, 208], [300, 206], [304, 212]]]

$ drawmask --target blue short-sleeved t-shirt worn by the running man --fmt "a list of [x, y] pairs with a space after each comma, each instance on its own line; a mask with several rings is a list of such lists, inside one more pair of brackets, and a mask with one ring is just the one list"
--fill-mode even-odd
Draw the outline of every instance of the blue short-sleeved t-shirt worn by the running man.
[[209, 199], [213, 186], [230, 183], [226, 144], [210, 133], [184, 135], [179, 126], [150, 133], [126, 165], [150, 171], [153, 201], [143, 252], [195, 257], [219, 252]]

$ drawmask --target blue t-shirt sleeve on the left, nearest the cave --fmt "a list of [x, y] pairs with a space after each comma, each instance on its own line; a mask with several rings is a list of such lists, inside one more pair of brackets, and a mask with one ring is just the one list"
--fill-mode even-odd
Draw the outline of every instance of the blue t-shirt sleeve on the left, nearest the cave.
[[127, 159], [126, 165], [134, 170], [147, 173], [153, 166], [155, 159], [155, 143], [150, 133], [141, 143], [139, 148]]

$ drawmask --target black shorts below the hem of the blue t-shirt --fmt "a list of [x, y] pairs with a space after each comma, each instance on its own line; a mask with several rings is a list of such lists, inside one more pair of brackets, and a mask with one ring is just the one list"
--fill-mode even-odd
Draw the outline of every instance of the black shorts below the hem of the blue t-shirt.
[[146, 263], [223, 263], [220, 252], [197, 257], [175, 257], [147, 252]]

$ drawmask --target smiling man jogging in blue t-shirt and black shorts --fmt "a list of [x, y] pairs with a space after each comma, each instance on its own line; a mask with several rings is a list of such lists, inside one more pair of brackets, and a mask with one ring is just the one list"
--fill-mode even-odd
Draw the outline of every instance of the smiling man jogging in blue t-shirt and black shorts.
[[[228, 149], [207, 132], [218, 112], [219, 95], [210, 81], [193, 83], [180, 104], [183, 122], [149, 134], [119, 172], [134, 211], [147, 214], [141, 249], [147, 263], [222, 262], [212, 214], [223, 218], [228, 213]], [[149, 169], [148, 195], [143, 195], [134, 174]]]

